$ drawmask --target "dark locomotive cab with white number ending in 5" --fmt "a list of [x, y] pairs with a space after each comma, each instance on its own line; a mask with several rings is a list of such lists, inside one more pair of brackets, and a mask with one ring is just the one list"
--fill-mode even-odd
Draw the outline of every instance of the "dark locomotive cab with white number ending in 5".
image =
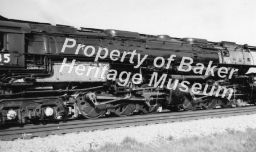
[[[2, 16], [0, 16], [2, 17]], [[24, 67], [24, 34], [31, 32], [27, 23], [0, 20], [0, 68]]]

